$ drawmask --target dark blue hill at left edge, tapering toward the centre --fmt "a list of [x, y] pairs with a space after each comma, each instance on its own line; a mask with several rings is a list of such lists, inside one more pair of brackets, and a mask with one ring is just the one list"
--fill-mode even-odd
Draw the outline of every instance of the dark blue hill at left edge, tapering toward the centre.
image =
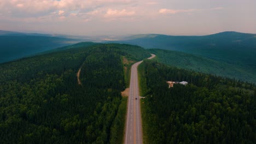
[[79, 43], [80, 41], [82, 40], [2, 31], [0, 32], [0, 63]]

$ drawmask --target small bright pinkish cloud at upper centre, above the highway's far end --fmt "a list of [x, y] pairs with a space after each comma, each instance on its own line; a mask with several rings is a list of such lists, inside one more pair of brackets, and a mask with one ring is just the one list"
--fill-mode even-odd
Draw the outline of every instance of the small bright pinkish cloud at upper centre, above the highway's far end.
[[117, 10], [117, 9], [108, 9], [105, 17], [127, 17], [135, 15], [135, 11], [127, 11], [126, 9]]

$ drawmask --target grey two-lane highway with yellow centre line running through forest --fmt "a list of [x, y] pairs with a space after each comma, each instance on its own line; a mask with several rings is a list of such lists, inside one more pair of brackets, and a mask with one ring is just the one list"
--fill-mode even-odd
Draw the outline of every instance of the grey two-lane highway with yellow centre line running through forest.
[[[154, 58], [155, 55], [148, 59]], [[139, 87], [137, 67], [143, 61], [137, 62], [131, 68], [130, 95], [127, 107], [125, 143], [142, 143], [141, 105], [139, 103]]]

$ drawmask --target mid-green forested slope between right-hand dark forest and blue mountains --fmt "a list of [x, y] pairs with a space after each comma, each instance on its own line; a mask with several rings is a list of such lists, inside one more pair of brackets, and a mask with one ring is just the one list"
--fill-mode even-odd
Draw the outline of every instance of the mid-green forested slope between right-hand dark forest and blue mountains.
[[177, 68], [195, 70], [207, 74], [256, 83], [255, 71], [245, 69], [236, 64], [229, 64], [179, 51], [160, 49], [149, 49], [148, 51], [155, 53], [155, 59], [160, 63], [172, 65]]

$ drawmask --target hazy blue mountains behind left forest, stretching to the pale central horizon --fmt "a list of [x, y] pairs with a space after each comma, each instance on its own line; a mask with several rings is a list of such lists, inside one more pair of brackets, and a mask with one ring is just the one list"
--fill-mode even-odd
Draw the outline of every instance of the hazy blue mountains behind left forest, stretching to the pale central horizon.
[[[113, 35], [81, 36], [0, 30], [0, 63], [36, 55], [37, 53], [52, 52], [51, 50], [59, 51], [61, 49], [69, 49], [70, 47], [68, 47], [68, 45], [80, 43], [82, 41], [102, 42], [114, 39], [119, 39], [119, 37]], [[80, 43], [79, 45], [84, 44]], [[59, 47], [62, 48], [54, 50]]]

